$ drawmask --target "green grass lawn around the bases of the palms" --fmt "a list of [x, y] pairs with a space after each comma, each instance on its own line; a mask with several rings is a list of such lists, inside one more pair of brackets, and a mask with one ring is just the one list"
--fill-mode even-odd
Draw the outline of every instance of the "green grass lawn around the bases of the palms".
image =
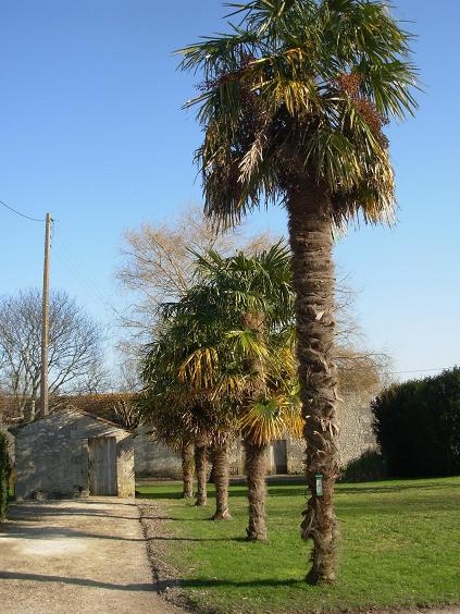
[[[301, 483], [269, 487], [266, 543], [244, 540], [246, 490], [233, 520], [179, 499], [181, 486], [139, 486], [167, 523], [166, 555], [199, 612], [327, 612], [460, 603], [460, 477], [337, 484], [337, 586], [303, 581], [311, 545], [299, 538]], [[212, 495], [212, 487], [210, 487]], [[164, 543], [164, 539], [162, 540]]]

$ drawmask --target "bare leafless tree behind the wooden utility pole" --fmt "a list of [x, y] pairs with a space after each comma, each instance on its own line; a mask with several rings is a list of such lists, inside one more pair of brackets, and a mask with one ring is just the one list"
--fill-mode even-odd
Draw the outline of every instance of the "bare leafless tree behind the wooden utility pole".
[[[27, 290], [0, 298], [0, 388], [22, 414], [40, 386], [41, 295]], [[95, 393], [107, 383], [101, 328], [65, 292], [49, 310], [49, 393]]]

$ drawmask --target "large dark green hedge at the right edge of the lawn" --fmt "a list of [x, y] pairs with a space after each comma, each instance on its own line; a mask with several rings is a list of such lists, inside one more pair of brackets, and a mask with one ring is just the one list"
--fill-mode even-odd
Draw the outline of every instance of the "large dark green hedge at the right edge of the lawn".
[[460, 474], [460, 368], [395, 384], [372, 403], [391, 477]]

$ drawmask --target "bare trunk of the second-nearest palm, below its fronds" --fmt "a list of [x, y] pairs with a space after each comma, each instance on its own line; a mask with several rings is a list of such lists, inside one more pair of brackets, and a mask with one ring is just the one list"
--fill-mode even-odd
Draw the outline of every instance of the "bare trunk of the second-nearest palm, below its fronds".
[[266, 444], [254, 445], [249, 439], [245, 439], [249, 502], [249, 526], [246, 529], [248, 541], [266, 540]]

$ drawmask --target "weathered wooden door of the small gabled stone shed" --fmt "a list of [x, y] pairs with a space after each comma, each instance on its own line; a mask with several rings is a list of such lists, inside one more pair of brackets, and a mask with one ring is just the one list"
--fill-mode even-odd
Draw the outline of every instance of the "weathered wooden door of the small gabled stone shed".
[[89, 494], [116, 496], [116, 439], [96, 437], [88, 440]]

